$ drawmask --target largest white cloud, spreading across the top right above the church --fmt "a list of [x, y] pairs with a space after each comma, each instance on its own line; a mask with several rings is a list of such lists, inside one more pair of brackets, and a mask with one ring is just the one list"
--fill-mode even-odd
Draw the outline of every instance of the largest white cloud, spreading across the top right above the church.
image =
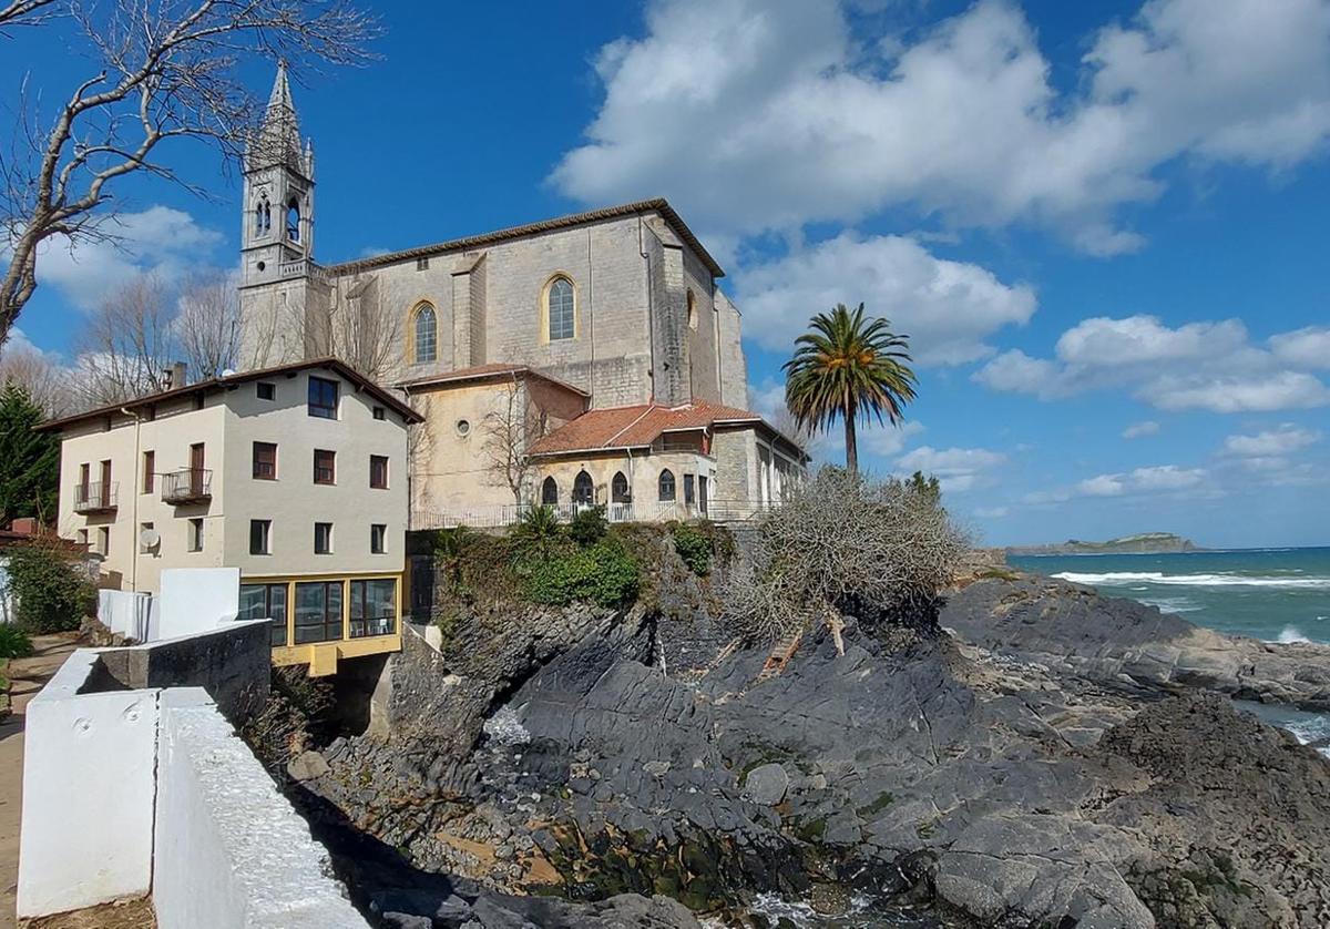
[[709, 233], [904, 205], [1107, 254], [1140, 246], [1117, 208], [1157, 197], [1161, 165], [1279, 170], [1330, 134], [1323, 0], [1150, 0], [1085, 39], [1063, 93], [1005, 0], [908, 43], [853, 35], [834, 3], [653, 0], [644, 37], [601, 49], [605, 100], [552, 180], [591, 202], [662, 192]]

